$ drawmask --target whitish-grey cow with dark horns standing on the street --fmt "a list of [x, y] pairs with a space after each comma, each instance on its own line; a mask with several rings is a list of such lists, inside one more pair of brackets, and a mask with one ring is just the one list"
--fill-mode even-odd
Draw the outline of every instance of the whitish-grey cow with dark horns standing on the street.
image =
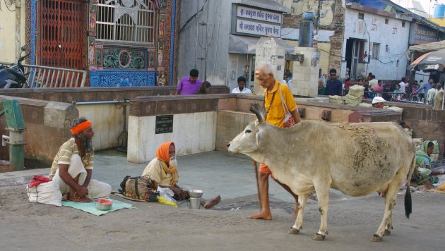
[[[381, 241], [392, 228], [391, 213], [397, 192], [410, 166], [415, 164], [411, 137], [396, 123], [326, 123], [302, 121], [293, 128], [265, 123], [263, 110], [253, 105], [258, 121], [250, 123], [228, 145], [230, 152], [246, 154], [266, 164], [273, 176], [299, 195], [299, 212], [288, 233], [302, 229], [309, 192], [316, 192], [321, 214], [320, 229], [312, 236], [324, 240], [327, 229], [329, 189], [362, 196], [384, 192], [383, 221], [372, 241]], [[411, 168], [410, 176], [414, 168]], [[405, 214], [411, 213], [408, 179]]]

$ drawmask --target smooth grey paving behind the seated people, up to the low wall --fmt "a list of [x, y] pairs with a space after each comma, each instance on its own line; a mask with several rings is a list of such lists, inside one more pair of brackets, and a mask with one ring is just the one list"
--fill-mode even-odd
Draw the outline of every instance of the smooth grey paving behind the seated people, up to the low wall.
[[[249, 157], [213, 151], [177, 157], [177, 161], [178, 185], [203, 190], [203, 198], [219, 194], [222, 200], [227, 200], [256, 195], [254, 161]], [[93, 178], [109, 183], [117, 191], [125, 176], [140, 176], [146, 165], [129, 163], [125, 153], [114, 149], [95, 152]], [[25, 184], [34, 175], [48, 173], [49, 168], [0, 173], [0, 186]], [[269, 192], [276, 200], [294, 202], [293, 197], [273, 180]]]

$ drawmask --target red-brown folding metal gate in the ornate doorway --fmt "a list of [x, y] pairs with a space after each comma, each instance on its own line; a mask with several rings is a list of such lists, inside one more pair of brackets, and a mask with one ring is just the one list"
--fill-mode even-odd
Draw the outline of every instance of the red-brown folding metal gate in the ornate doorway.
[[83, 69], [86, 1], [37, 1], [37, 64]]

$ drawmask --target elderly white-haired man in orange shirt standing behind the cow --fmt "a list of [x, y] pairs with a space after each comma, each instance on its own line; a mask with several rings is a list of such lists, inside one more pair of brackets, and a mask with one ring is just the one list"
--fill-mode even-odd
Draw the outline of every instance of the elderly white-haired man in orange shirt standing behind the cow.
[[[278, 127], [287, 127], [285, 125], [285, 117], [287, 110], [292, 115], [295, 123], [299, 123], [301, 118], [297, 111], [297, 104], [295, 104], [292, 92], [290, 92], [287, 85], [283, 85], [277, 80], [273, 75], [273, 66], [271, 63], [261, 62], [255, 69], [255, 77], [264, 88], [264, 108], [266, 109], [266, 122], [276, 125]], [[260, 164], [259, 166], [259, 194], [261, 198], [261, 212], [249, 216], [251, 219], [266, 219], [271, 220], [272, 214], [269, 208], [269, 175], [271, 175], [271, 170], [265, 164]], [[272, 175], [273, 178], [273, 175]], [[287, 192], [290, 192], [295, 198], [295, 212], [294, 216], [298, 213], [298, 195], [290, 190], [290, 188], [280, 183], [280, 181], [275, 180], [278, 184], [283, 186]]]

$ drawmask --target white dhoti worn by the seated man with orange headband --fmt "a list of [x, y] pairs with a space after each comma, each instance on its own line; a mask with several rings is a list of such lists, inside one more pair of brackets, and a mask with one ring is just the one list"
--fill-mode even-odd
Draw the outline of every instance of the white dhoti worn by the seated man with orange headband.
[[[85, 182], [87, 171], [85, 170], [85, 167], [82, 164], [82, 159], [78, 154], [71, 155], [68, 173], [71, 176], [71, 178], [76, 178], [80, 174], [78, 181], [79, 185], [83, 185], [83, 183]], [[62, 195], [71, 190], [70, 186], [60, 178], [59, 169], [57, 169], [53, 180], [59, 183], [59, 188]], [[90, 195], [92, 199], [109, 197], [111, 191], [112, 191], [111, 185], [102, 181], [90, 180], [90, 183], [88, 184], [88, 195]]]

